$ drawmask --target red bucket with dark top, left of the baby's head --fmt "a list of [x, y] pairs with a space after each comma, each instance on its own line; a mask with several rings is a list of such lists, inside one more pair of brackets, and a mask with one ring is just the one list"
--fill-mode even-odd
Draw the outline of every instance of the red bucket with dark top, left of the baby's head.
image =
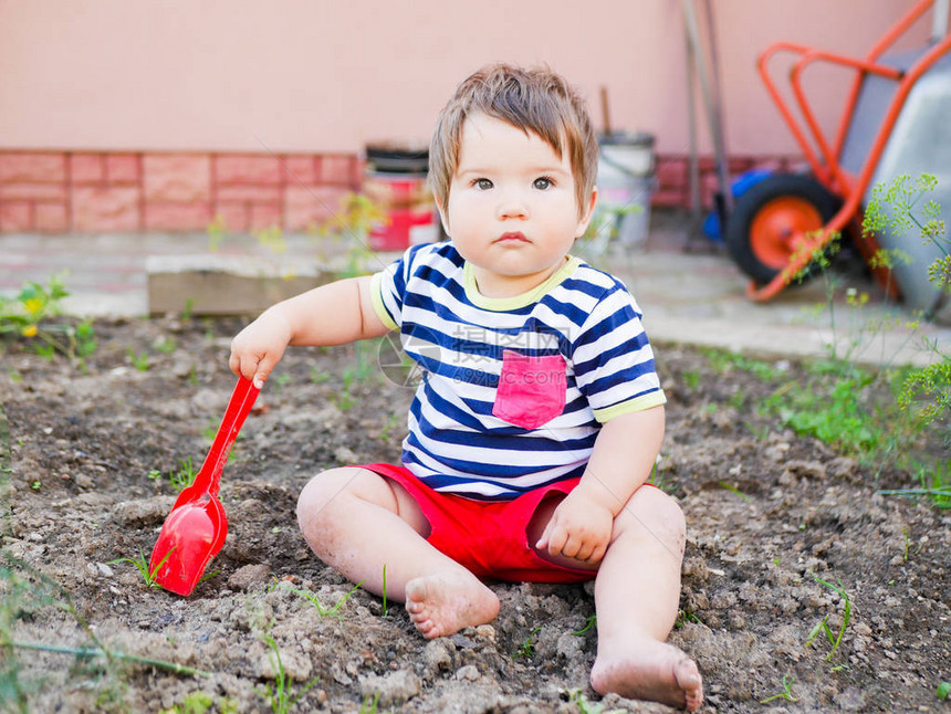
[[426, 180], [428, 150], [373, 145], [366, 147], [366, 158], [362, 190], [386, 214], [370, 228], [370, 249], [405, 251], [437, 241], [436, 202]]

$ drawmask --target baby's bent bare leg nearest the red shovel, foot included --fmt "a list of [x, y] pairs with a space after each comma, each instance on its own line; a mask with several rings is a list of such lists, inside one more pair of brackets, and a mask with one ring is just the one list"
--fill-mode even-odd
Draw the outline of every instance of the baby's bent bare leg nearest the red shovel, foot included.
[[429, 523], [395, 481], [367, 469], [332, 469], [297, 500], [297, 523], [311, 549], [353, 582], [403, 600], [427, 638], [484, 624], [499, 599], [474, 575], [426, 542]]

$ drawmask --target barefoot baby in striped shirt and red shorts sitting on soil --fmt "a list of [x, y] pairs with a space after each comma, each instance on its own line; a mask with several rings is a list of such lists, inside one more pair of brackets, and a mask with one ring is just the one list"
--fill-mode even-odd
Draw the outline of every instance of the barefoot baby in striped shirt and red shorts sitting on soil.
[[234, 337], [260, 387], [289, 345], [398, 330], [422, 380], [401, 464], [331, 469], [301, 493], [313, 552], [403, 599], [426, 638], [490, 622], [483, 578], [595, 580], [595, 691], [699, 708], [666, 640], [684, 523], [646, 485], [666, 401], [625, 286], [569, 254], [597, 198], [584, 102], [544, 70], [487, 67], [439, 116], [429, 178], [450, 241], [279, 303]]

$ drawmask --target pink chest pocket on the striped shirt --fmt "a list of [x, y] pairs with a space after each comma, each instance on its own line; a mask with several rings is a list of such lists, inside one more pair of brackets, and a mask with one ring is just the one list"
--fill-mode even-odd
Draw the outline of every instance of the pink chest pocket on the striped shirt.
[[547, 423], [565, 408], [565, 369], [561, 355], [534, 357], [504, 350], [492, 413], [523, 429]]

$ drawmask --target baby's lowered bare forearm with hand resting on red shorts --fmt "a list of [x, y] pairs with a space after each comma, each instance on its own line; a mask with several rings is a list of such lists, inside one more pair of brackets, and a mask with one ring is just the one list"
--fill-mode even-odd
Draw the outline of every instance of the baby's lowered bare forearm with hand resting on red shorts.
[[650, 476], [663, 440], [663, 407], [615, 417], [602, 427], [581, 483], [558, 504], [536, 548], [600, 563], [614, 519]]

